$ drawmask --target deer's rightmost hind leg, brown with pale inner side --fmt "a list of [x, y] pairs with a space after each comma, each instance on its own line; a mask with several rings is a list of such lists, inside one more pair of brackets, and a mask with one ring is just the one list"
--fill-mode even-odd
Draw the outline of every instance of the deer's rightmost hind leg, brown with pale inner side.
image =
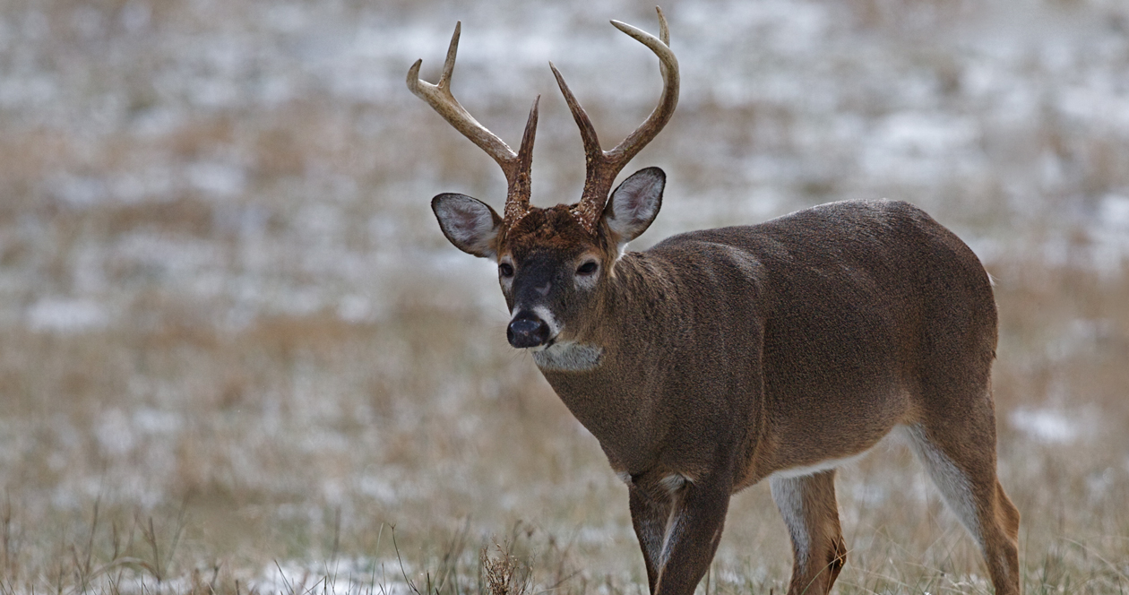
[[997, 595], [1019, 594], [1019, 511], [996, 478], [995, 421], [959, 431], [908, 427], [911, 445], [933, 482], [980, 545]]

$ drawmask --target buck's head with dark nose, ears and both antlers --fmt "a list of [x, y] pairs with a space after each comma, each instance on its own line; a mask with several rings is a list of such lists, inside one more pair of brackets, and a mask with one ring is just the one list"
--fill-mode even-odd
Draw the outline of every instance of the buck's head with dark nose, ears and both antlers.
[[[458, 250], [498, 263], [498, 278], [510, 308], [507, 336], [516, 348], [544, 349], [586, 334], [586, 317], [606, 292], [616, 260], [627, 243], [642, 234], [658, 215], [666, 176], [657, 167], [639, 170], [614, 192], [615, 176], [671, 120], [679, 102], [679, 61], [669, 49], [669, 32], [658, 10], [659, 36], [613, 20], [612, 25], [649, 47], [659, 59], [663, 95], [647, 120], [615, 148], [605, 151], [596, 130], [564, 78], [550, 62], [564, 100], [580, 128], [587, 174], [580, 200], [548, 209], [530, 204], [530, 170], [537, 128], [537, 99], [515, 154], [476, 122], [450, 93], [458, 50], [460, 24], [447, 50], [437, 85], [419, 79], [422, 61], [408, 72], [408, 87], [439, 112], [450, 125], [490, 155], [506, 175], [504, 216], [464, 194], [445, 193], [431, 209], [447, 239]], [[590, 317], [589, 317], [590, 318]]]

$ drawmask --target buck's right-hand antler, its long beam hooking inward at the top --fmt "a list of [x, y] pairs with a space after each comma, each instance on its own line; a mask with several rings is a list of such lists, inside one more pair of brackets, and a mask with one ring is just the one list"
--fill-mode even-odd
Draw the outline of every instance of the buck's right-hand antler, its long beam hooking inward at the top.
[[615, 176], [636, 154], [663, 130], [663, 126], [674, 114], [674, 107], [679, 104], [679, 59], [671, 51], [671, 33], [666, 27], [663, 9], [655, 7], [655, 10], [658, 11], [659, 37], [625, 23], [612, 21], [615, 28], [655, 52], [659, 61], [659, 72], [663, 75], [663, 95], [658, 98], [658, 106], [634, 132], [628, 134], [628, 138], [623, 139], [614, 149], [605, 151], [599, 148], [599, 140], [596, 138], [596, 129], [592, 125], [592, 120], [572, 96], [572, 91], [564, 84], [564, 78], [561, 77], [557, 67], [552, 62], [549, 63], [549, 67], [553, 69], [553, 76], [557, 77], [557, 85], [560, 86], [564, 100], [572, 112], [572, 117], [576, 120], [577, 126], [580, 128], [580, 138], [584, 141], [588, 170], [580, 202], [572, 208], [572, 213], [589, 233], [594, 233], [599, 224], [599, 217], [604, 211], [607, 193], [612, 189], [612, 183], [615, 182]]

